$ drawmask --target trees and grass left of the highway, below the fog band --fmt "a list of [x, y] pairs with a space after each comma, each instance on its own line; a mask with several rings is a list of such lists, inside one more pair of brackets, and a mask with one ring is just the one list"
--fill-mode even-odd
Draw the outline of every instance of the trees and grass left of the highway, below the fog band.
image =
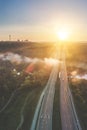
[[26, 72], [28, 63], [0, 61], [0, 130], [29, 130], [52, 68], [36, 63]]

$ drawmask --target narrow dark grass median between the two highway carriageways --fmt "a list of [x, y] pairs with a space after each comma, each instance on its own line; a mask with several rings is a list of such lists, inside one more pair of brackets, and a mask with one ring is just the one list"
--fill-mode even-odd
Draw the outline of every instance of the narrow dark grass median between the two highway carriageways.
[[60, 80], [57, 78], [53, 104], [53, 130], [62, 130], [60, 117]]

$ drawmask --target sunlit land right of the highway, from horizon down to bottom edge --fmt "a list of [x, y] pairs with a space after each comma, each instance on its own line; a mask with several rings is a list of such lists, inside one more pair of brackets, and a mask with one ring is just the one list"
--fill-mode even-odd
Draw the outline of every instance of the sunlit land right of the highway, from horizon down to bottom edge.
[[[76, 111], [83, 130], [87, 129], [87, 44], [69, 44], [66, 49], [66, 63], [69, 86], [74, 98]], [[80, 78], [75, 78], [79, 76]]]

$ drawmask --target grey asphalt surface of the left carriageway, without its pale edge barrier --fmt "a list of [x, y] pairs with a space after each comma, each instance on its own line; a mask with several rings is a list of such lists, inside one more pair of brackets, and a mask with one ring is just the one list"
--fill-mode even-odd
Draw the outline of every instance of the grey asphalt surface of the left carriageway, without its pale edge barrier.
[[53, 100], [57, 75], [58, 64], [55, 64], [47, 84], [47, 90], [44, 94], [36, 130], [52, 130]]

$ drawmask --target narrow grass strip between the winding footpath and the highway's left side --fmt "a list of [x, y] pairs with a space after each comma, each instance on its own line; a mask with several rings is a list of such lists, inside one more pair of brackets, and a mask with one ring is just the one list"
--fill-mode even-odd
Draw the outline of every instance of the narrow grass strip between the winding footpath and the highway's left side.
[[31, 101], [27, 102], [25, 110], [24, 110], [24, 122], [20, 130], [29, 130], [31, 127], [31, 123], [33, 120], [34, 112], [40, 98], [40, 94], [42, 92], [42, 88], [35, 91], [34, 95], [32, 96]]

